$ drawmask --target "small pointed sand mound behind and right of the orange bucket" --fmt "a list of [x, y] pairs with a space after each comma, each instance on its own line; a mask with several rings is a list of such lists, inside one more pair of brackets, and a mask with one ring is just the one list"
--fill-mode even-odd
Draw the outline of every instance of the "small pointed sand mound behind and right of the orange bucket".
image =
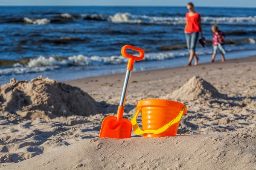
[[164, 98], [171, 100], [189, 100], [224, 98], [227, 95], [220, 94], [209, 82], [199, 76], [193, 76], [176, 91], [166, 95]]

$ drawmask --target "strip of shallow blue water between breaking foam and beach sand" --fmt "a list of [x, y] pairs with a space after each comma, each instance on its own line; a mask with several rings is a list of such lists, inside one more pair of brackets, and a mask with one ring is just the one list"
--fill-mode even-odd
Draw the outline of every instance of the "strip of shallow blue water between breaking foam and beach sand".
[[[200, 53], [200, 50], [198, 51]], [[163, 54], [148, 54], [150, 57], [155, 57], [155, 55], [159, 55], [158, 57], [162, 58], [160, 60], [148, 60], [148, 61], [141, 61], [136, 62], [134, 65], [133, 72], [140, 72], [140, 71], [149, 71], [149, 70], [158, 70], [163, 68], [175, 68], [178, 66], [183, 67], [187, 62], [187, 57], [175, 57], [172, 59], [168, 58], [171, 53], [163, 53]], [[256, 54], [256, 50], [249, 50], [249, 51], [239, 51], [239, 52], [229, 52], [225, 56], [227, 60], [229, 59], [239, 59], [245, 58], [249, 56], [253, 56]], [[199, 63], [207, 63], [211, 59], [211, 55], [201, 55], [199, 58]], [[88, 66], [70, 66], [70, 67], [61, 67], [61, 66], [46, 66], [46, 67], [32, 67], [32, 68], [8, 68], [7, 70], [1, 70], [0, 74], [0, 85], [8, 83], [10, 79], [15, 78], [16, 80], [31, 80], [38, 76], [49, 77], [50, 79], [55, 79], [59, 82], [65, 81], [72, 81], [76, 79], [83, 79], [89, 77], [100, 77], [105, 75], [116, 75], [125, 73], [125, 68], [127, 62], [123, 59], [124, 57], [120, 58], [122, 60], [122, 64], [113, 64], [113, 65], [88, 65]], [[39, 59], [40, 60], [40, 59]], [[44, 59], [43, 59], [44, 60]], [[218, 60], [218, 56], [217, 56]], [[39, 61], [38, 61], [39, 62]], [[47, 60], [48, 62], [48, 60]], [[82, 63], [81, 63], [82, 64]], [[2, 71], [2, 72], [1, 72]], [[7, 72], [6, 72], [7, 71]], [[32, 72], [30, 72], [32, 71]], [[39, 72], [38, 72], [39, 71]], [[9, 74], [9, 72], [12, 74]], [[17, 73], [16, 73], [17, 72]]]

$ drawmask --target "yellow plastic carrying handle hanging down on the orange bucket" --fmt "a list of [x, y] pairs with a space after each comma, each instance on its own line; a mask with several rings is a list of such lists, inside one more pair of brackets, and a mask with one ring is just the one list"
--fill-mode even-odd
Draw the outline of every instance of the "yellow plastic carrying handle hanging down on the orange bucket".
[[138, 117], [138, 114], [140, 113], [140, 111], [137, 111], [133, 118], [131, 119], [131, 124], [133, 126], [133, 131], [136, 135], [143, 135], [145, 133], [153, 133], [153, 134], [160, 134], [160, 133], [163, 133], [165, 132], [166, 130], [169, 129], [169, 127], [171, 127], [172, 125], [180, 122], [182, 116], [183, 116], [183, 112], [185, 111], [186, 109], [186, 105], [183, 106], [183, 108], [181, 109], [180, 113], [178, 114], [177, 117], [175, 117], [175, 119], [173, 119], [171, 122], [167, 123], [166, 125], [163, 125], [162, 127], [160, 127], [159, 129], [157, 130], [141, 130], [138, 123], [137, 123], [137, 117]]

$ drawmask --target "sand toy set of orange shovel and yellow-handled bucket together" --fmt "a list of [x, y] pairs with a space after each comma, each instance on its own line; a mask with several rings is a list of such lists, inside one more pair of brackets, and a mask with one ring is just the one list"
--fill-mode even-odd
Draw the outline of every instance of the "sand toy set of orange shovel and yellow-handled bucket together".
[[[127, 49], [138, 51], [140, 56], [137, 57], [127, 54]], [[122, 47], [121, 54], [123, 57], [128, 58], [122, 96], [116, 116], [108, 116], [103, 120], [99, 137], [116, 139], [130, 138], [132, 129], [135, 134], [143, 135], [143, 137], [149, 138], [175, 136], [177, 134], [178, 126], [183, 114], [187, 113], [186, 105], [182, 103], [161, 99], [140, 100], [137, 102], [137, 112], [131, 121], [122, 118], [125, 110], [125, 99], [128, 92], [134, 62], [135, 60], [142, 60], [145, 53], [141, 48], [125, 45]], [[140, 112], [142, 116], [143, 130], [141, 130], [137, 124], [137, 116]]]

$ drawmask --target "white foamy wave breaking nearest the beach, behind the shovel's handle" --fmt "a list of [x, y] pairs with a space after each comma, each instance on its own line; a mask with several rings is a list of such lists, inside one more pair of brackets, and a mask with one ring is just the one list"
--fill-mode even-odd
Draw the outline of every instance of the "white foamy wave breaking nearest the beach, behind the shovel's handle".
[[[188, 55], [187, 52], [180, 53], [180, 55]], [[164, 60], [174, 58], [173, 53], [157, 53], [157, 54], [146, 54], [144, 61], [152, 60]], [[117, 65], [128, 62], [128, 59], [122, 56], [111, 56], [111, 57], [99, 57], [91, 56], [87, 57], [82, 54], [74, 55], [67, 58], [59, 57], [43, 57], [29, 59], [24, 64], [13, 63], [12, 67], [0, 69], [0, 76], [12, 75], [12, 74], [28, 74], [37, 73], [44, 71], [53, 71], [56, 69], [70, 67], [70, 66], [88, 66], [88, 65]]]

